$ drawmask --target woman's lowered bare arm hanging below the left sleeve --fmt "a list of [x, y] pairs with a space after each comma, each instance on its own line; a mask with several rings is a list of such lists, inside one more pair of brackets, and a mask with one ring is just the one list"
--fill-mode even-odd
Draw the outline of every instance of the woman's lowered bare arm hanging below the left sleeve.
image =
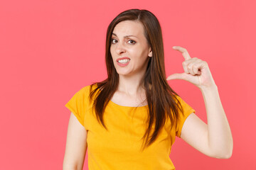
[[82, 170], [87, 150], [87, 131], [71, 112], [63, 160], [63, 170]]

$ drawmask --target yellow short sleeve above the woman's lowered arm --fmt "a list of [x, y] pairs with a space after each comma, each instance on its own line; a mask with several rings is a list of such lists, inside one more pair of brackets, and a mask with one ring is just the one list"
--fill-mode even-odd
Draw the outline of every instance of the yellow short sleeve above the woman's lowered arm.
[[75, 95], [72, 98], [70, 98], [68, 103], [65, 104], [65, 107], [68, 108], [75, 115], [76, 118], [78, 118], [78, 121], [84, 127], [87, 88], [88, 86], [85, 86], [82, 89], [80, 89], [78, 92], [75, 93]]

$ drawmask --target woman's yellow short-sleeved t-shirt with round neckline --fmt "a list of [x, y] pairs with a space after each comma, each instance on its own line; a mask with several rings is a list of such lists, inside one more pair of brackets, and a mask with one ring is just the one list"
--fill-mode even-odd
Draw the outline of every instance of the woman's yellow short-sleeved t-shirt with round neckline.
[[[95, 86], [93, 87], [95, 89]], [[99, 89], [98, 89], [99, 90]], [[88, 166], [90, 170], [159, 170], [175, 169], [169, 157], [175, 137], [180, 137], [181, 128], [188, 115], [196, 113], [180, 97], [184, 115], [177, 121], [177, 129], [170, 131], [170, 120], [166, 119], [164, 128], [153, 144], [141, 152], [146, 130], [148, 106], [137, 109], [130, 106], [119, 106], [110, 101], [103, 115], [107, 130], [97, 122], [92, 103], [88, 102], [90, 85], [84, 86], [65, 104], [87, 130]], [[154, 131], [154, 126], [152, 127]]]

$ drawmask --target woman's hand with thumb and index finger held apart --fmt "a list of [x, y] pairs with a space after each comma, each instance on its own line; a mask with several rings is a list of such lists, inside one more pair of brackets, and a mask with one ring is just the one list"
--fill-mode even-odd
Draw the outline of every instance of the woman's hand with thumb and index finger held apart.
[[185, 61], [182, 63], [185, 72], [171, 74], [166, 80], [183, 79], [198, 86], [199, 89], [215, 86], [207, 62], [196, 57], [191, 58], [188, 51], [183, 47], [174, 46], [173, 48], [174, 50], [181, 52], [185, 58]]

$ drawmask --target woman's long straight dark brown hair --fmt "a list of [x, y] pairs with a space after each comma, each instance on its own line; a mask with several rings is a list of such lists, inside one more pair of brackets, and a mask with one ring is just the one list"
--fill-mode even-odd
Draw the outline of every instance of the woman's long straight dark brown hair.
[[[163, 38], [161, 33], [161, 26], [158, 19], [154, 16], [153, 13], [147, 10], [129, 9], [119, 13], [117, 17], [110, 23], [110, 26], [107, 28], [107, 38], [106, 38], [106, 51], [105, 51], [105, 62], [107, 65], [107, 79], [100, 82], [94, 82], [90, 86], [90, 99], [92, 99], [92, 94], [95, 93], [98, 89], [97, 96], [93, 103], [93, 109], [97, 116], [99, 123], [102, 123], [104, 128], [107, 130], [104, 120], [103, 113], [107, 103], [112, 98], [114, 92], [117, 90], [119, 84], [119, 74], [117, 74], [116, 69], [114, 68], [114, 63], [112, 61], [112, 56], [110, 53], [111, 45], [111, 36], [114, 27], [117, 23], [121, 21], [139, 21], [144, 26], [144, 36], [147, 40], [147, 43], [151, 47], [152, 57], [149, 57], [149, 62], [146, 67], [146, 73], [142, 78], [142, 83], [146, 91], [146, 100], [148, 103], [148, 117], [147, 123], [148, 128], [142, 137], [145, 139], [145, 147], [149, 147], [159, 134], [159, 130], [163, 128], [166, 121], [167, 115], [171, 120], [171, 129], [174, 127], [174, 122], [178, 118], [178, 109], [182, 111], [181, 103], [178, 101], [176, 92], [171, 89], [168, 82], [166, 81], [166, 73], [164, 67], [164, 45]], [[93, 85], [97, 85], [95, 90], [91, 90]], [[178, 96], [178, 94], [176, 94]], [[176, 101], [178, 103], [176, 103]], [[167, 111], [167, 112], [166, 112]], [[155, 123], [155, 128], [153, 134], [149, 135], [151, 132], [151, 127]], [[171, 132], [171, 130], [170, 130]]]

